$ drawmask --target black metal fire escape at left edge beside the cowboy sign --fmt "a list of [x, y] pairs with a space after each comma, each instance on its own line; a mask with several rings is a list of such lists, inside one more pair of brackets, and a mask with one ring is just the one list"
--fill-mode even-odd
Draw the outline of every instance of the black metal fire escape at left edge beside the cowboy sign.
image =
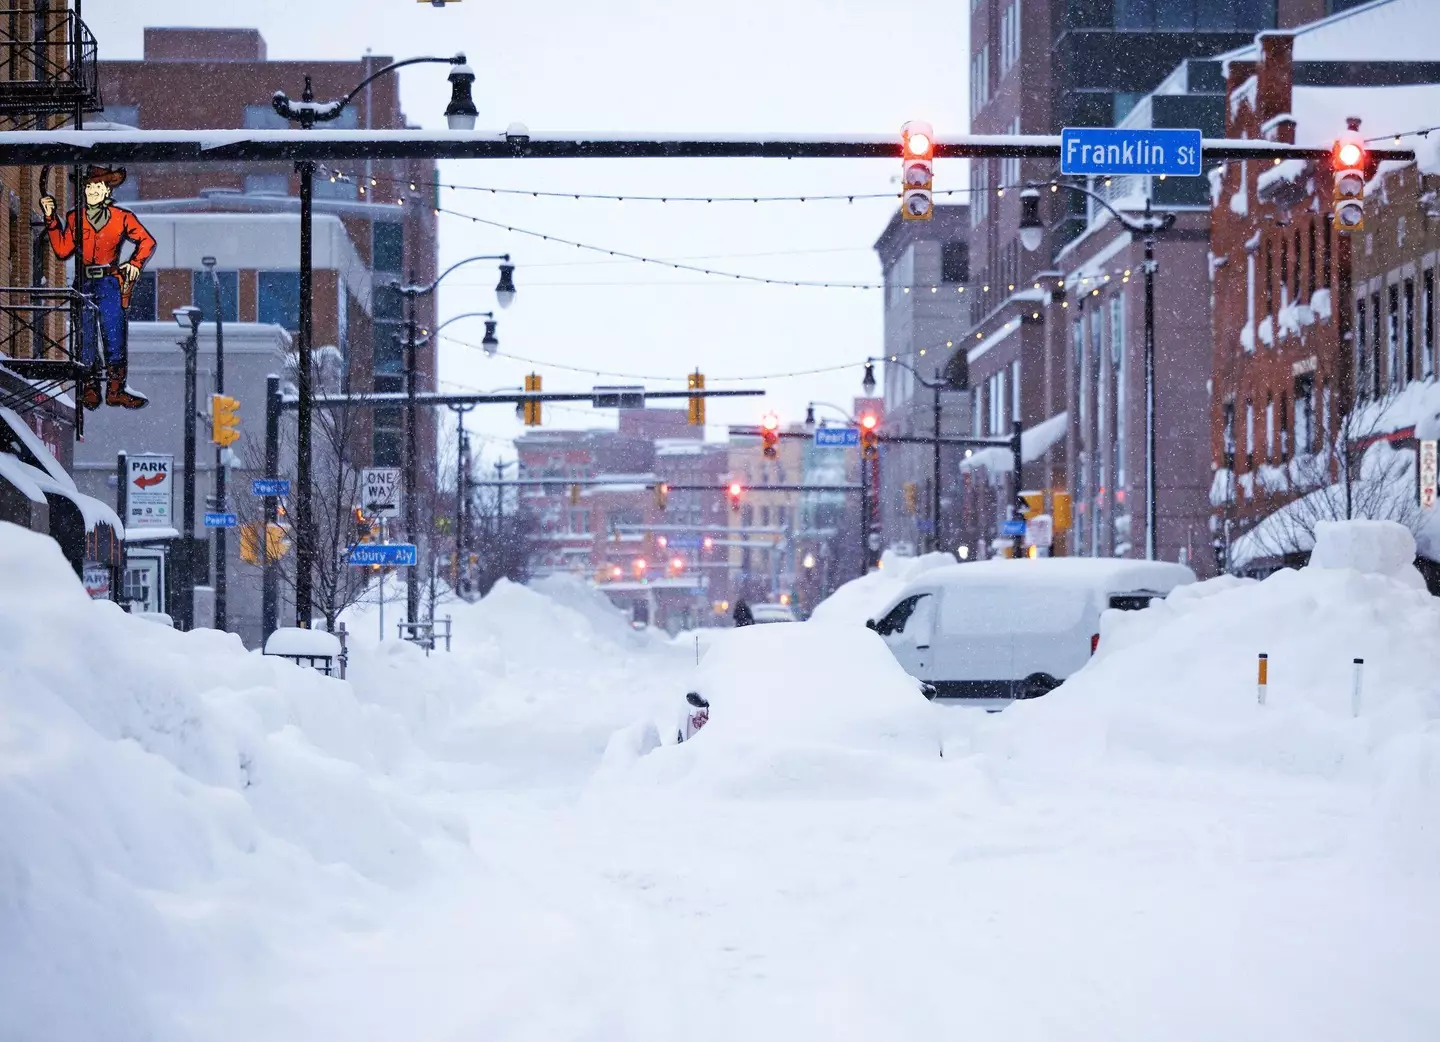
[[[3, 0], [0, 0], [3, 1]], [[12, 0], [23, 3], [23, 0]], [[59, 0], [32, 0], [0, 9], [0, 128], [49, 130], [82, 127], [86, 112], [101, 109], [95, 36], [75, 9]], [[23, 272], [22, 220], [12, 210], [9, 272], [0, 286], [0, 406], [19, 413], [37, 409], [73, 387], [85, 370], [79, 363], [79, 330], [95, 321], [94, 307], [76, 289], [50, 285], [50, 246], [39, 196], [55, 194], [63, 213], [65, 171], [40, 170], [39, 191], [22, 194], [29, 216], [29, 272]], [[23, 184], [33, 184], [23, 171]], [[75, 183], [79, 183], [76, 173]], [[13, 206], [13, 204], [12, 204]], [[22, 279], [24, 285], [20, 285]], [[84, 435], [84, 410], [75, 407], [75, 433]]]

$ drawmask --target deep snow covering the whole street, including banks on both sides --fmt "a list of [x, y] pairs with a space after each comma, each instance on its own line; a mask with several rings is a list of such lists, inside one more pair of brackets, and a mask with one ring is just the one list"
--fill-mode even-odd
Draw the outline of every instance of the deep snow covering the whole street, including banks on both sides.
[[456, 606], [429, 659], [360, 616], [340, 684], [0, 537], [6, 1042], [1440, 1029], [1440, 610], [1385, 576], [1172, 594], [1045, 698], [922, 699], [943, 758], [719, 724], [639, 754], [693, 638], [577, 584]]

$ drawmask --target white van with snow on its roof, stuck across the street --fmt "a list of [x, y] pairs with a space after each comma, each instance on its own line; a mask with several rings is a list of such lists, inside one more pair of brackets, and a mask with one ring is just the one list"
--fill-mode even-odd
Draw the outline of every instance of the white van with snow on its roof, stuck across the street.
[[1194, 581], [1168, 561], [976, 561], [926, 571], [865, 625], [936, 698], [996, 705], [1043, 695], [1080, 669], [1106, 609], [1140, 609]]

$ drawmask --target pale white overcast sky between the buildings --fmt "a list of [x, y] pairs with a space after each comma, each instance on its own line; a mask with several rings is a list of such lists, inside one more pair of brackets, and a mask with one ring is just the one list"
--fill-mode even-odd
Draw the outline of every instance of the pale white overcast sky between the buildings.
[[[236, 6], [239, 7], [239, 6]], [[469, 55], [480, 125], [520, 121], [534, 131], [852, 131], [894, 132], [929, 119], [937, 134], [966, 130], [963, 3], [920, 0], [554, 0], [540, 9], [461, 0], [194, 0], [85, 4], [102, 58], [140, 58], [151, 26], [253, 26], [274, 59], [353, 59], [366, 47], [409, 58]], [[442, 66], [402, 73], [409, 118], [444, 125]], [[268, 85], [269, 86], [269, 85]], [[275, 83], [295, 94], [300, 83]], [[894, 168], [891, 168], [894, 167]], [[899, 164], [883, 160], [510, 160], [441, 164], [444, 181], [636, 194], [873, 193], [894, 189]], [[942, 163], [936, 187], [962, 187], [960, 161]], [[943, 201], [943, 200], [942, 200]], [[445, 191], [442, 206], [567, 239], [772, 278], [878, 281], [871, 249], [891, 200], [838, 203], [613, 203]], [[652, 265], [621, 263], [573, 248], [441, 219], [442, 266], [472, 253], [510, 252], [518, 298], [501, 315], [501, 351], [547, 363], [674, 377], [698, 366], [717, 377], [858, 363], [881, 345], [880, 291], [747, 285]], [[494, 307], [495, 272], [454, 273], [441, 318]], [[478, 344], [478, 320], [446, 334]], [[442, 344], [442, 387], [518, 386], [531, 366]], [[536, 367], [546, 390], [585, 390], [616, 377]], [[811, 399], [847, 403], [861, 370], [750, 380], [765, 399], [711, 402], [711, 425], [755, 423], [766, 410], [802, 419]], [[508, 439], [510, 409], [469, 414], [472, 430]], [[613, 413], [550, 407], [546, 426], [602, 426]], [[723, 436], [714, 426], [711, 438]], [[491, 452], [500, 440], [488, 443]]]

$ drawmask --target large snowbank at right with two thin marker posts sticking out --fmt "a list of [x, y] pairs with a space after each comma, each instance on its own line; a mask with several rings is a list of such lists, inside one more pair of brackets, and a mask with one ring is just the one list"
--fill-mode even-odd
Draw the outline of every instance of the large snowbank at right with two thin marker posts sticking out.
[[[1414, 541], [1401, 525], [1351, 521], [1318, 531], [1319, 564], [1264, 581], [1224, 576], [1179, 587], [1142, 612], [1107, 612], [1096, 658], [1050, 695], [984, 721], [975, 748], [1047, 764], [1139, 758], [1371, 786], [1390, 784], [1400, 771], [1433, 807], [1440, 600], [1417, 587]], [[1358, 718], [1356, 658], [1364, 659]], [[1392, 817], [1397, 803], [1424, 800], [1401, 786], [1381, 816]], [[1433, 819], [1407, 822], [1437, 839]], [[1440, 842], [1431, 853], [1440, 856]]]

